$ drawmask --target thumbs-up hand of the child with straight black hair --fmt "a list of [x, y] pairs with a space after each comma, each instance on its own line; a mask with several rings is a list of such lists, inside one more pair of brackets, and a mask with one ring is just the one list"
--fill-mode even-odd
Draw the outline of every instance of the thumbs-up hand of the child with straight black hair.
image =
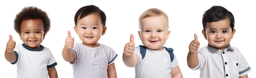
[[68, 31], [68, 37], [65, 40], [65, 48], [70, 50], [74, 46], [74, 38], [71, 37], [70, 31]]

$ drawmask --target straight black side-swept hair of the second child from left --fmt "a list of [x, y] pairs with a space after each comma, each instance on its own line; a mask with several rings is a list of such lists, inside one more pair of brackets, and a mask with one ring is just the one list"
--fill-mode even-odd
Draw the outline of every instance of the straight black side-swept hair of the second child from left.
[[[74, 18], [75, 26], [76, 26], [78, 20], [80, 20], [94, 12], [99, 13], [99, 15], [101, 17], [101, 22], [102, 22], [103, 26], [105, 26], [105, 24], [106, 24], [105, 13], [99, 7], [94, 6], [94, 5], [84, 6], [77, 10], [77, 12], [75, 13], [75, 18]], [[79, 19], [78, 19], [78, 17], [79, 17]]]

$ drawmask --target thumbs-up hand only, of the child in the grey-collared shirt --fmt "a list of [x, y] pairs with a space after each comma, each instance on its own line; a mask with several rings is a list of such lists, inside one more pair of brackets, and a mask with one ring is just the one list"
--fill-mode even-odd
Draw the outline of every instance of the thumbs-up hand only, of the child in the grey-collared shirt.
[[197, 53], [200, 46], [200, 42], [198, 42], [197, 34], [194, 34], [194, 36], [195, 36], [195, 40], [191, 41], [188, 47], [190, 53]]

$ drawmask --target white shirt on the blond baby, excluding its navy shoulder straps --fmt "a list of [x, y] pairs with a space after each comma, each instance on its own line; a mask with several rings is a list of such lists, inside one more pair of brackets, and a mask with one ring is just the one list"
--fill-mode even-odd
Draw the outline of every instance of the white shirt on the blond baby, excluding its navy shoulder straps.
[[139, 46], [135, 47], [134, 53], [139, 56], [139, 61], [135, 66], [135, 78], [171, 78], [171, 68], [178, 66], [176, 56], [174, 55], [171, 62], [170, 55], [165, 48], [162, 51], [147, 48], [143, 59]]

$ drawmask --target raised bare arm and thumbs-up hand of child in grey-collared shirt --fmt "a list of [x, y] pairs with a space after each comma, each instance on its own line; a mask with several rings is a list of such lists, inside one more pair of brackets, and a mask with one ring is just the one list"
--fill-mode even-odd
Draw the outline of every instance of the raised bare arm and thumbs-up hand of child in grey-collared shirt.
[[189, 45], [189, 52], [187, 54], [187, 65], [190, 68], [195, 68], [199, 64], [199, 59], [198, 59], [198, 49], [200, 46], [200, 43], [198, 42], [197, 34], [194, 34], [195, 40], [193, 40], [190, 45]]

